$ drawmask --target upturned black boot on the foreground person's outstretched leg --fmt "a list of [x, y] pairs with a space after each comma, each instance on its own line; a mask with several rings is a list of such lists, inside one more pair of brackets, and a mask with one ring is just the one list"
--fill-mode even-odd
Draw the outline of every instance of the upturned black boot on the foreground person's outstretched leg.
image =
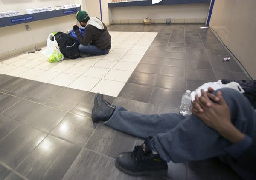
[[103, 99], [103, 94], [97, 93], [94, 97], [94, 106], [92, 110], [92, 120], [95, 121], [106, 121], [108, 120], [116, 106], [111, 105]]

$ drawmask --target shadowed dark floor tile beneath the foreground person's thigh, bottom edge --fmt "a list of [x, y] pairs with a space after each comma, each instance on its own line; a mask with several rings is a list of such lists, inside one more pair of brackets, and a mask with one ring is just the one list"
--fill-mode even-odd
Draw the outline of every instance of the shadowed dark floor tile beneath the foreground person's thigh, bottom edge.
[[226, 164], [217, 158], [198, 162], [189, 162], [189, 180], [241, 180]]

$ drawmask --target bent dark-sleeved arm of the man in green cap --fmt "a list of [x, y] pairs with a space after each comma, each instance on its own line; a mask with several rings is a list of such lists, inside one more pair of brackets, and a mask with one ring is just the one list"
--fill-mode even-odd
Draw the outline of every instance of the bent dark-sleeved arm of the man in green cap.
[[90, 26], [86, 26], [84, 36], [82, 36], [81, 32], [79, 31], [79, 27], [76, 24], [73, 26], [73, 30], [77, 36], [77, 39], [82, 45], [86, 46], [91, 42], [93, 34]]

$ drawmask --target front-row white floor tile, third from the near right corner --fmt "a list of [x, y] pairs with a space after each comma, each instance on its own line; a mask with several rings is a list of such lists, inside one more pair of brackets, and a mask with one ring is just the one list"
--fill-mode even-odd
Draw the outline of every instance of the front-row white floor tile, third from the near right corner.
[[57, 77], [50, 80], [48, 83], [66, 87], [78, 77], [79, 75], [61, 73]]

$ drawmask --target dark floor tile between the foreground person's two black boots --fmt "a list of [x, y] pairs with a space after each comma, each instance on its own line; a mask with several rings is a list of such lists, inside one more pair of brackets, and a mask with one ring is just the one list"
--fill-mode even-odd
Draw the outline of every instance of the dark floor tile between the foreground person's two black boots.
[[120, 152], [132, 151], [135, 140], [136, 137], [134, 136], [100, 123], [85, 147], [97, 153], [116, 158]]

